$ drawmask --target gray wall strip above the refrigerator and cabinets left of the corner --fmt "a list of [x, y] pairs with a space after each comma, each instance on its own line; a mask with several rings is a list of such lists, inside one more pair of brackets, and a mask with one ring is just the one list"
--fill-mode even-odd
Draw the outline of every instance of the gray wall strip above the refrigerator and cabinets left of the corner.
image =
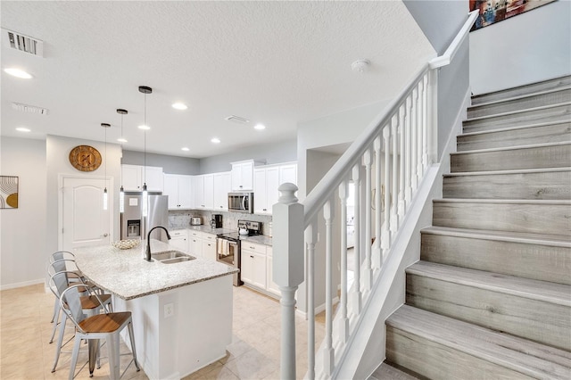
[[[145, 153], [123, 151], [121, 163], [130, 165], [143, 165]], [[194, 158], [169, 156], [165, 154], [146, 153], [146, 165], [158, 166], [169, 174], [200, 174], [200, 160]]]

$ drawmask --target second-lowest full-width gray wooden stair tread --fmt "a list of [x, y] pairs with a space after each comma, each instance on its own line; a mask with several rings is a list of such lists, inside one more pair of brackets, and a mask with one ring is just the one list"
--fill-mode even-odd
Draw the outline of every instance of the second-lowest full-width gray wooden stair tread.
[[451, 267], [428, 261], [412, 264], [406, 269], [406, 273], [571, 307], [571, 285]]

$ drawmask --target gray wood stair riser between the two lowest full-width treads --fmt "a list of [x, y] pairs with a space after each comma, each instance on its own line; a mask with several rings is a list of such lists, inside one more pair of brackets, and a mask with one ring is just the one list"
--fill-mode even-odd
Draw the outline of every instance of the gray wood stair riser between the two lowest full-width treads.
[[410, 274], [406, 289], [410, 306], [571, 350], [567, 306]]

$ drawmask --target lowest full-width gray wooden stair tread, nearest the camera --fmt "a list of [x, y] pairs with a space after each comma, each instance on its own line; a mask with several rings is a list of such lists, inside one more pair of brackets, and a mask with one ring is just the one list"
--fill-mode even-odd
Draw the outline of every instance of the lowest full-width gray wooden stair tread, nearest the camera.
[[568, 378], [571, 353], [402, 305], [386, 325], [535, 378]]

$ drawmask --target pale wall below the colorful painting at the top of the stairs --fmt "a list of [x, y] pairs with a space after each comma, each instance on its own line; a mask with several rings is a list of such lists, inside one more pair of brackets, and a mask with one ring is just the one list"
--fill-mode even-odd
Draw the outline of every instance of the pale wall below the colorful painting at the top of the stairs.
[[484, 94], [571, 73], [571, 2], [561, 0], [470, 33], [470, 86]]

